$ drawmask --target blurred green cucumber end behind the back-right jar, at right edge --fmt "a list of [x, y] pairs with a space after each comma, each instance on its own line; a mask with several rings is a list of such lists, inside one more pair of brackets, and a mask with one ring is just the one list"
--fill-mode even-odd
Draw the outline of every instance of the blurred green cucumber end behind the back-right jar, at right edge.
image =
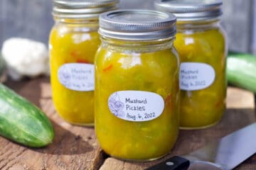
[[256, 93], [256, 56], [229, 52], [227, 59], [228, 83]]

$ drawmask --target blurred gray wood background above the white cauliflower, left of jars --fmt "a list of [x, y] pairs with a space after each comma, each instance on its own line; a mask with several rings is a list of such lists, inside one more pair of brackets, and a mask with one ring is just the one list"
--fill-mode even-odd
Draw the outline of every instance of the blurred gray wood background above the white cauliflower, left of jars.
[[[1, 0], [2, 38], [30, 38], [48, 44], [52, 1], [49, 0]], [[1, 45], [0, 45], [1, 47]]]

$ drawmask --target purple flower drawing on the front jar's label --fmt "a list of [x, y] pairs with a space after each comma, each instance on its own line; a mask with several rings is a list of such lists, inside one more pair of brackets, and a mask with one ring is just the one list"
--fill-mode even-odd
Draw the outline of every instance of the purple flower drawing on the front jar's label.
[[123, 117], [124, 116], [124, 103], [120, 101], [119, 96], [117, 93], [110, 96], [108, 100], [108, 106], [110, 108], [110, 112], [116, 115], [117, 117]]

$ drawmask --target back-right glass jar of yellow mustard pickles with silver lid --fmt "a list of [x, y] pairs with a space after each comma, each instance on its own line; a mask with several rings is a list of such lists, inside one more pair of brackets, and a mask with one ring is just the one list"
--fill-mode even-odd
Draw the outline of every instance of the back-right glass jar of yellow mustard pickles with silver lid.
[[225, 112], [227, 45], [220, 26], [222, 1], [156, 0], [177, 17], [174, 46], [181, 59], [181, 128], [215, 125]]

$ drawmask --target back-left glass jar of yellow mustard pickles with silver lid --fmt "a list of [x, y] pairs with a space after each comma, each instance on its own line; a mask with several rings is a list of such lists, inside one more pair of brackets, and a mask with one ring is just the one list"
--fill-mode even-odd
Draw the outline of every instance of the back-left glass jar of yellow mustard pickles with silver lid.
[[69, 123], [94, 123], [94, 56], [100, 45], [98, 16], [117, 0], [55, 0], [50, 32], [50, 83], [53, 103]]

